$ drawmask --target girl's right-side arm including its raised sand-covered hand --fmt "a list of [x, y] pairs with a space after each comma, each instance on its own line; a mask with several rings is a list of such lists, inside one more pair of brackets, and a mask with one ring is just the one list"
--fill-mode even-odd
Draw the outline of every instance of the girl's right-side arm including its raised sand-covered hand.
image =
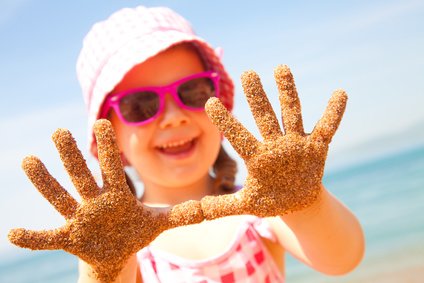
[[364, 251], [355, 216], [322, 185], [329, 144], [342, 119], [347, 95], [336, 90], [322, 118], [305, 133], [300, 100], [287, 66], [275, 69], [282, 112], [281, 130], [259, 76], [246, 72], [242, 84], [259, 141], [217, 99], [206, 111], [245, 161], [248, 175], [235, 195], [202, 199], [206, 219], [231, 214], [275, 217], [281, 244], [306, 264], [328, 274], [354, 268]]

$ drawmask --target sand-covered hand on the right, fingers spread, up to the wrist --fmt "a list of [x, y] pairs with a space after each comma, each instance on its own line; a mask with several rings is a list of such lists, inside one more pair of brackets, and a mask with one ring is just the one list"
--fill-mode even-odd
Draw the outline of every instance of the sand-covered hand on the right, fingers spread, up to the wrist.
[[336, 90], [311, 134], [303, 129], [301, 107], [293, 76], [287, 66], [275, 69], [284, 133], [256, 73], [245, 72], [242, 85], [263, 141], [259, 142], [218, 99], [206, 111], [244, 159], [248, 176], [237, 193], [202, 199], [206, 219], [232, 214], [261, 217], [284, 215], [317, 200], [328, 145], [342, 119], [347, 95]]

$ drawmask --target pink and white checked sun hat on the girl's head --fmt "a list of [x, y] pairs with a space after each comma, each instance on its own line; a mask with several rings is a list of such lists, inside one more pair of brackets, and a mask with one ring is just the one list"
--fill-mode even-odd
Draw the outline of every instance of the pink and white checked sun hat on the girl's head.
[[88, 111], [88, 142], [94, 156], [93, 125], [108, 94], [135, 65], [182, 42], [191, 42], [207, 68], [219, 73], [220, 99], [232, 110], [234, 85], [221, 63], [220, 48], [212, 48], [194, 33], [186, 19], [169, 8], [124, 8], [93, 25], [77, 60], [77, 76]]

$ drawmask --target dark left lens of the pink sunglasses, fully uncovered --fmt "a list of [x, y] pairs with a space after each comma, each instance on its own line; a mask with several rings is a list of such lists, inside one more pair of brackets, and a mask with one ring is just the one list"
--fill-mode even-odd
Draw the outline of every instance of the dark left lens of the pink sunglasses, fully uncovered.
[[127, 122], [146, 121], [159, 111], [159, 96], [151, 91], [126, 95], [119, 102], [119, 110]]

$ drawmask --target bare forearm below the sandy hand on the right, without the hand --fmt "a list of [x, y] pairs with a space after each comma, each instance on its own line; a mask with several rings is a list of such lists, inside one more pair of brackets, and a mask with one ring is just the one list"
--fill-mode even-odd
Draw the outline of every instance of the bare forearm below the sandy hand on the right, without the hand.
[[322, 273], [347, 273], [363, 257], [361, 225], [324, 187], [310, 207], [270, 221], [280, 244], [294, 257]]

